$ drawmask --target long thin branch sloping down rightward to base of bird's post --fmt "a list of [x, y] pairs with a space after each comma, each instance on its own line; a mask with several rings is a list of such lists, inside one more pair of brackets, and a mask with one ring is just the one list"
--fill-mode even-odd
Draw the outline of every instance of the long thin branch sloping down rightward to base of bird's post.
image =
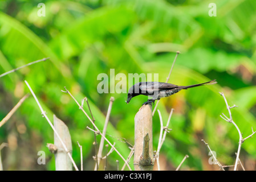
[[[83, 113], [86, 115], [86, 117], [89, 119], [89, 121], [92, 123], [92, 125], [95, 127], [96, 131], [99, 132], [99, 134], [101, 135], [101, 137], [103, 137], [107, 142], [108, 144], [113, 147], [113, 149], [116, 151], [116, 153], [121, 157], [121, 159], [124, 160], [125, 163], [127, 163], [127, 161], [124, 159], [124, 157], [120, 154], [120, 152], [113, 146], [113, 144], [111, 142], [109, 142], [109, 140], [107, 138], [105, 138], [105, 136], [100, 132], [100, 130], [97, 128], [97, 126], [95, 125], [95, 123], [92, 121], [92, 119], [89, 117], [89, 115], [86, 113], [86, 111], [81, 107], [81, 105], [79, 104], [78, 101], [76, 101], [75, 97], [72, 96], [72, 94], [67, 90], [66, 87], [64, 87], [66, 91], [66, 93], [68, 93], [72, 98], [73, 100], [76, 102], [76, 104], [79, 106], [79, 108], [83, 111]], [[132, 171], [131, 167], [129, 166], [129, 164], [127, 163], [127, 166], [129, 168], [130, 171]]]

